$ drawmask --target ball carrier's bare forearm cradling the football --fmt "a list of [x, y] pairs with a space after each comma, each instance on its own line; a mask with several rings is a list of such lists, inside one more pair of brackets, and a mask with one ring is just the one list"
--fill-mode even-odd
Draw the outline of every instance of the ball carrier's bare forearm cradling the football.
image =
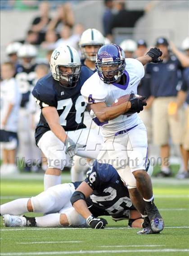
[[91, 105], [91, 109], [94, 111], [100, 122], [115, 119], [121, 114], [125, 114], [127, 111], [129, 111], [130, 107], [130, 101], [126, 101], [120, 105], [112, 107], [107, 107], [104, 102], [94, 103]]

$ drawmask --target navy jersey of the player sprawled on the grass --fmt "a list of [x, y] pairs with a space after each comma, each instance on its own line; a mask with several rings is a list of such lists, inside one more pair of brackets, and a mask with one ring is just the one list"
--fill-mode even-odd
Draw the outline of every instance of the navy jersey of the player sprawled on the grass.
[[127, 187], [112, 165], [95, 161], [93, 168], [87, 172], [85, 182], [94, 190], [86, 199], [87, 206], [94, 216], [117, 215], [124, 210], [135, 210]]

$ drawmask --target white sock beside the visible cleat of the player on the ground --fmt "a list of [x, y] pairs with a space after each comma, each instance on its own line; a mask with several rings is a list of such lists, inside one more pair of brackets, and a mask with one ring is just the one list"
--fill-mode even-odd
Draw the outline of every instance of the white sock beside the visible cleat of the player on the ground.
[[62, 227], [60, 224], [60, 213], [47, 214], [35, 219], [37, 227]]

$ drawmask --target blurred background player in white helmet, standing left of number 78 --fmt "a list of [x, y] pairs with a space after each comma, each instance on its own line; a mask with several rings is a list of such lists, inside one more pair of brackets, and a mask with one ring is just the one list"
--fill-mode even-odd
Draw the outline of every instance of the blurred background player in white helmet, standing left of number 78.
[[36, 55], [37, 50], [35, 46], [25, 44], [18, 50], [19, 63], [16, 65], [15, 79], [18, 82], [18, 87], [22, 95], [20, 110], [19, 110], [19, 122], [18, 122], [18, 155], [19, 157], [25, 157], [25, 170], [30, 171], [30, 167], [33, 159], [33, 153], [31, 145], [35, 144], [34, 137], [31, 137], [30, 129], [30, 112], [28, 110], [29, 96], [32, 88], [34, 87], [36, 79]]

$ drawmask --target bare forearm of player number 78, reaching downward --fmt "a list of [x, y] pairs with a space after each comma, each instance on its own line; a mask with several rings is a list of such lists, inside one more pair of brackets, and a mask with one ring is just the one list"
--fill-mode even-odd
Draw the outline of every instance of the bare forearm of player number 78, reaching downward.
[[45, 107], [42, 109], [42, 114], [44, 115], [47, 123], [49, 124], [50, 130], [54, 133], [59, 140], [63, 143], [66, 141], [67, 134], [64, 128], [59, 123], [58, 112], [55, 107]]

